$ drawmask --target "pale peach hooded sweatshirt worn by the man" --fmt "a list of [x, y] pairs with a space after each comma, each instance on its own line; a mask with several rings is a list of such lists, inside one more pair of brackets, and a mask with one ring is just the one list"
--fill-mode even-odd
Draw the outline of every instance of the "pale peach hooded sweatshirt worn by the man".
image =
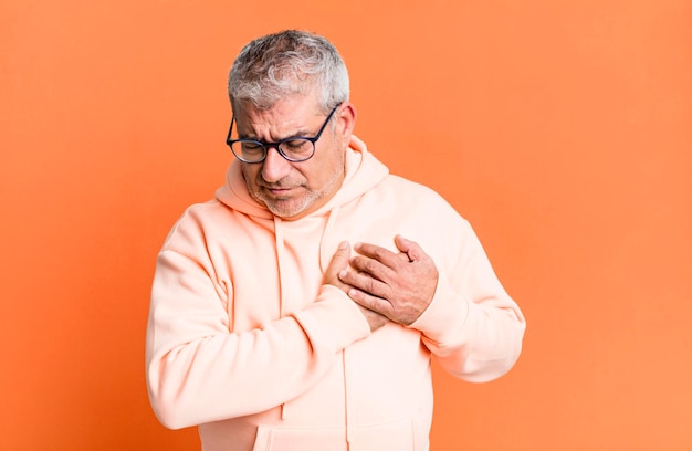
[[[296, 221], [250, 198], [238, 162], [227, 181], [166, 240], [147, 328], [154, 410], [199, 424], [205, 451], [427, 450], [431, 355], [479, 382], [518, 357], [524, 318], [469, 223], [357, 138], [342, 189]], [[340, 241], [396, 251], [396, 234], [432, 256], [437, 292], [409, 327], [370, 334], [323, 273]]]

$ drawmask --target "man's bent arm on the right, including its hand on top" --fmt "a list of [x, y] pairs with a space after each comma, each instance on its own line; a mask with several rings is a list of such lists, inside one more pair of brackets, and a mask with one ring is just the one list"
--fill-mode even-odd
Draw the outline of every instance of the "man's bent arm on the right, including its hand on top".
[[348, 292], [355, 302], [419, 329], [450, 374], [485, 381], [514, 365], [525, 322], [465, 221], [460, 238], [447, 243], [458, 254], [440, 271], [417, 243], [397, 237], [399, 253], [361, 244], [350, 262], [355, 271], [339, 276], [356, 287]]

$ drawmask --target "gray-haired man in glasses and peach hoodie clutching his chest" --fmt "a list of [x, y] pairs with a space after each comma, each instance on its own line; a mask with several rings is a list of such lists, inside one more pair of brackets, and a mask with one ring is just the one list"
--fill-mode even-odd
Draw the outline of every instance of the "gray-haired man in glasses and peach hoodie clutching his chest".
[[426, 450], [430, 359], [486, 381], [524, 318], [471, 227], [352, 133], [324, 38], [249, 43], [229, 77], [237, 160], [159, 254], [147, 381], [169, 428], [217, 450]]

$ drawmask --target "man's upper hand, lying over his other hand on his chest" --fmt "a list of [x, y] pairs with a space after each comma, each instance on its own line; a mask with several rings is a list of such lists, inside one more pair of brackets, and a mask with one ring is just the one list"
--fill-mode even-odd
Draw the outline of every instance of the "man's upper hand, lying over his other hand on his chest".
[[395, 237], [399, 253], [375, 244], [359, 243], [350, 259], [356, 270], [338, 273], [348, 295], [361, 307], [389, 319], [411, 325], [428, 308], [438, 285], [432, 259], [413, 241]]

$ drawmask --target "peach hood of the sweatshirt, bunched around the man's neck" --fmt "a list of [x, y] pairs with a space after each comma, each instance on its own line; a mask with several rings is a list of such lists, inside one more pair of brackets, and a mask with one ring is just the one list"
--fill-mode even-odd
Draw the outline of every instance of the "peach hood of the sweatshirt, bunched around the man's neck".
[[[378, 185], [389, 174], [389, 169], [367, 150], [365, 143], [352, 136], [346, 150], [346, 177], [339, 190], [318, 210], [307, 217], [322, 216], [359, 197]], [[265, 206], [254, 200], [248, 192], [241, 162], [233, 160], [226, 176], [226, 185], [217, 190], [217, 199], [223, 204], [251, 217], [272, 219]]]

